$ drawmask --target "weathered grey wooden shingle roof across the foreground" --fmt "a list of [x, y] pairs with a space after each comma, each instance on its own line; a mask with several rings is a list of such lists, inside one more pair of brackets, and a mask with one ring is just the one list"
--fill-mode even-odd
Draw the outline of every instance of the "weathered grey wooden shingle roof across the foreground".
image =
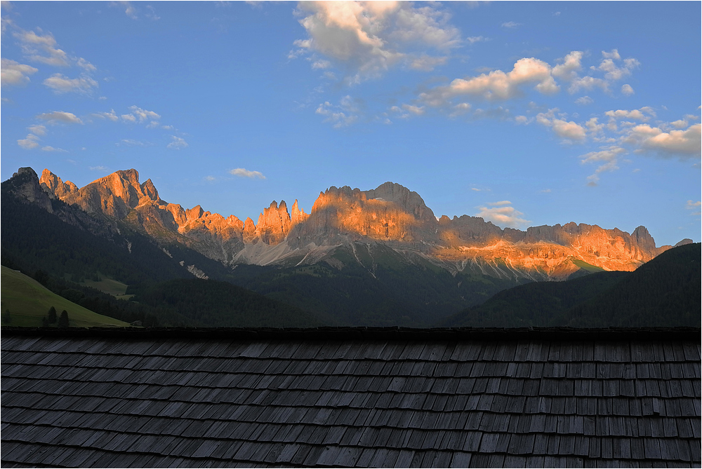
[[700, 331], [3, 329], [3, 467], [700, 467]]

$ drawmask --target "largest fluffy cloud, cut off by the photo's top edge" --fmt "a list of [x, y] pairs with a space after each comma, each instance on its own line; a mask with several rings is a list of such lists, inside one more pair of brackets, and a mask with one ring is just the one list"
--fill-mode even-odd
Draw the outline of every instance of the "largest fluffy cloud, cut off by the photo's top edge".
[[[399, 62], [431, 70], [445, 52], [461, 44], [461, 33], [449, 24], [450, 15], [435, 5], [415, 7], [409, 2], [301, 2], [297, 14], [307, 39], [294, 42], [293, 59], [305, 53], [322, 54], [350, 67], [351, 83], [380, 76]], [[419, 54], [416, 54], [416, 52]], [[442, 54], [445, 55], [445, 54]], [[434, 59], [433, 61], [431, 59]], [[319, 67], [319, 60], [312, 67]]]

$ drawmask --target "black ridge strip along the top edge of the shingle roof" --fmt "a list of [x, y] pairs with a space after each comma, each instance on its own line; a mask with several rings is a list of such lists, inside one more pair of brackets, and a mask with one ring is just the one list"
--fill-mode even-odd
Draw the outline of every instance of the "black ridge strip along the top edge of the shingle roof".
[[65, 337], [67, 339], [114, 338], [152, 339], [231, 339], [232, 341], [501, 341], [539, 339], [549, 341], [589, 340], [697, 340], [700, 327], [315, 327], [315, 328], [189, 328], [189, 327], [91, 327], [54, 329], [43, 327], [2, 327], [1, 334], [25, 337]]

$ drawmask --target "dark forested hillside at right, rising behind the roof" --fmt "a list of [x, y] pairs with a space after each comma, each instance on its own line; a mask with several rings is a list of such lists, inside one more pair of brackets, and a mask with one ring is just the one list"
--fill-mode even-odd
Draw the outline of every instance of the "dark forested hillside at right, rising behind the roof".
[[442, 325], [458, 327], [674, 327], [701, 325], [701, 245], [663, 252], [633, 272], [521, 285]]

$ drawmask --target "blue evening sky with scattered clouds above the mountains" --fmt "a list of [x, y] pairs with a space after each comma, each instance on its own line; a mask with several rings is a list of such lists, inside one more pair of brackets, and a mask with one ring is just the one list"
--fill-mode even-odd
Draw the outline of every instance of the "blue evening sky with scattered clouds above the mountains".
[[1, 179], [701, 236], [701, 3], [2, 2]]

